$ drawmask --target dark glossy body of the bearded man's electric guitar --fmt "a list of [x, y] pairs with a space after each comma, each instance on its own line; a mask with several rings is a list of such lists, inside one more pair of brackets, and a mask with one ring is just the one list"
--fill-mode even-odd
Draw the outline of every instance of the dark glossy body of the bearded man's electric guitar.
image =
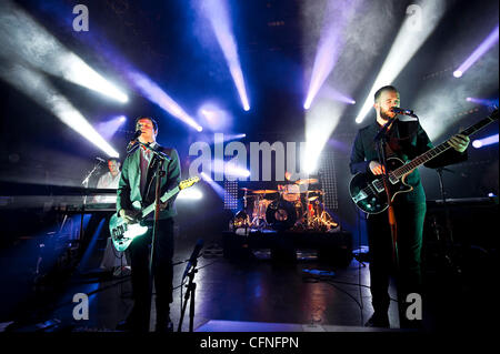
[[[404, 162], [398, 158], [389, 158], [387, 168], [389, 173], [402, 166]], [[408, 193], [413, 188], [404, 182], [406, 175], [397, 181], [389, 182], [389, 191], [392, 201], [398, 194]], [[382, 182], [382, 176], [371, 173], [358, 173], [349, 183], [349, 192], [356, 205], [368, 214], [379, 214], [388, 209], [387, 193], [384, 189], [376, 188], [374, 182]], [[382, 183], [383, 185], [383, 183]]]

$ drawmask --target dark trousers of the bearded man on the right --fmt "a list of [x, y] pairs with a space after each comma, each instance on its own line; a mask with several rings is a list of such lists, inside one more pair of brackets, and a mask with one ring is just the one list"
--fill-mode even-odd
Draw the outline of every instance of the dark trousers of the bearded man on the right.
[[[399, 195], [401, 196], [401, 195]], [[398, 196], [396, 198], [398, 199]], [[394, 203], [398, 227], [399, 272], [396, 272], [392, 260], [392, 237], [387, 211], [369, 215], [367, 220], [368, 243], [370, 252], [370, 290], [376, 313], [383, 314], [389, 310], [388, 293], [391, 275], [398, 282], [398, 300], [404, 315], [406, 299], [410, 293], [421, 295], [421, 249], [426, 203]]]

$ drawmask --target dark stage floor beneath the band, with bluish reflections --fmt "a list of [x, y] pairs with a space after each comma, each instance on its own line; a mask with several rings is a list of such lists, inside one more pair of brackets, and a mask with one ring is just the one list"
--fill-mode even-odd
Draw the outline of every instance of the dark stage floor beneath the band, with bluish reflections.
[[[189, 259], [196, 241], [176, 240], [174, 262]], [[3, 314], [0, 322], [24, 317], [23, 325], [20, 326], [22, 331], [36, 331], [36, 323], [51, 320], [56, 320], [57, 324], [53, 330], [114, 331], [117, 323], [131, 309], [131, 286], [127, 276], [106, 279], [93, 272], [102, 259], [101, 246], [106, 245], [104, 242], [106, 240], [99, 240], [96, 243], [88, 264], [80, 267], [81, 274], [73, 274], [66, 285], [49, 290], [44, 300], [33, 302], [28, 299], [22, 304], [12, 306], [11, 309], [17, 309], [16, 313], [12, 311], [10, 316]], [[296, 262], [276, 261], [270, 256], [269, 250], [253, 250], [250, 259], [229, 260], [223, 256], [221, 241], [206, 240], [204, 255], [199, 259], [199, 271], [194, 279], [194, 331], [383, 331], [363, 328], [363, 323], [372, 314], [368, 263], [361, 264], [352, 259], [347, 266], [329, 265], [320, 262], [314, 252], [308, 250], [298, 251]], [[174, 267], [174, 286], [179, 286], [184, 267], [186, 264]], [[433, 286], [439, 286], [438, 279], [432, 279], [432, 282]], [[454, 317], [449, 315], [462, 297], [450, 302], [450, 294], [436, 286], [429, 292], [430, 302], [424, 305], [424, 330], [461, 326], [459, 321], [466, 322], [467, 317], [460, 314]], [[72, 303], [72, 297], [76, 293], [92, 293], [89, 296], [89, 320], [73, 320], [76, 304]], [[396, 299], [393, 284], [390, 294]], [[180, 296], [180, 287], [177, 287], [171, 304], [171, 320], [176, 330], [181, 313]], [[462, 313], [467, 313], [463, 309], [476, 309], [478, 299], [470, 299], [470, 303], [462, 302]], [[183, 332], [189, 330], [189, 306], [187, 309]], [[394, 301], [391, 301], [389, 315], [391, 328], [399, 328]], [[151, 330], [154, 327], [154, 320], [153, 302]]]

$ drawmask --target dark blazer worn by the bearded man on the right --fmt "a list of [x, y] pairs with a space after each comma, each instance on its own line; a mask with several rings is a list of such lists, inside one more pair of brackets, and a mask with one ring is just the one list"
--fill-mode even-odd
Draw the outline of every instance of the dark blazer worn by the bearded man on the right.
[[[351, 160], [349, 164], [352, 174], [371, 173], [369, 168], [370, 162], [379, 161], [377, 146], [373, 139], [380, 129], [381, 127], [377, 120], [374, 120], [372, 124], [358, 131], [352, 146]], [[401, 122], [397, 120], [392, 123], [389, 135], [391, 138], [389, 139], [388, 145], [391, 148], [392, 155], [404, 162], [411, 161], [433, 148], [432, 142], [418, 121]], [[464, 160], [467, 160], [467, 150], [463, 153], [460, 153], [454, 149], [449, 149], [437, 158], [424, 163], [424, 166], [437, 169]], [[403, 199], [412, 203], [426, 202], [426, 193], [420, 181], [419, 169], [411, 172], [407, 176], [406, 182], [413, 186], [413, 191], [403, 193]]]

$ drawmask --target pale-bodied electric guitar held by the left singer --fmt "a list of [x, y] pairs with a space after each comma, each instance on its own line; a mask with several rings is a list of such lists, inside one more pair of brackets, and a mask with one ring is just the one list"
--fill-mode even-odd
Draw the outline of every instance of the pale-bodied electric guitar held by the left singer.
[[[164, 203], [170, 200], [173, 195], [180, 191], [190, 188], [194, 183], [199, 182], [200, 178], [196, 176], [181, 181], [178, 186], [167, 191], [161, 198], [160, 202]], [[132, 206], [136, 210], [140, 210], [137, 203]], [[111, 240], [113, 241], [114, 249], [117, 251], [124, 251], [128, 249], [133, 239], [143, 235], [148, 231], [148, 226], [143, 225], [146, 216], [148, 216], [156, 209], [156, 202], [151, 203], [149, 206], [140, 210], [139, 216], [136, 223], [127, 223], [123, 218], [120, 218], [117, 213], [109, 220], [109, 232], [111, 234]]]

